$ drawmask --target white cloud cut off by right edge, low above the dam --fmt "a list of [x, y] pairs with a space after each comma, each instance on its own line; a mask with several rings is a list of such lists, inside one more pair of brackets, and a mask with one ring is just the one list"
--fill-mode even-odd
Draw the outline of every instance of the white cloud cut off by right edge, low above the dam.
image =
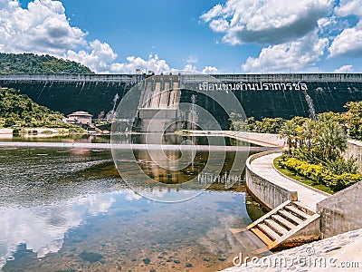
[[333, 40], [329, 47], [330, 56], [362, 56], [362, 25], [348, 28]]

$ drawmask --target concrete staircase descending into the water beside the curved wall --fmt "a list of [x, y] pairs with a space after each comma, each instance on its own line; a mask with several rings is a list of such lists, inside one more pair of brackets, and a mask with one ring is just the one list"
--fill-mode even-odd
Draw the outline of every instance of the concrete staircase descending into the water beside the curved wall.
[[268, 249], [289, 248], [320, 238], [319, 214], [298, 201], [286, 201], [246, 229], [251, 230]]

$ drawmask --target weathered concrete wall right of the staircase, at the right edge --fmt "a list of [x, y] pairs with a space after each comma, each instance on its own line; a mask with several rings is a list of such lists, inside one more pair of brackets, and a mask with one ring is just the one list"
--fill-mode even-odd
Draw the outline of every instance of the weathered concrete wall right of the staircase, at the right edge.
[[322, 238], [362, 228], [362, 182], [317, 203]]

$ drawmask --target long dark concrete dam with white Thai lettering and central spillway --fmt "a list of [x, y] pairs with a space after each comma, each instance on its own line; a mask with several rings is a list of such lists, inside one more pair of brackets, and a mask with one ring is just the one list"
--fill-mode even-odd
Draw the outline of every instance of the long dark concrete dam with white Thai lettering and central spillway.
[[17, 89], [54, 111], [81, 110], [97, 118], [100, 112], [114, 110], [133, 86], [143, 83], [144, 92], [135, 97], [141, 119], [170, 105], [175, 112], [169, 114], [175, 115], [178, 103], [191, 103], [195, 94], [195, 104], [217, 116], [224, 129], [228, 117], [220, 105], [203, 93], [190, 92], [189, 83], [205, 93], [233, 92], [246, 116], [256, 120], [344, 112], [346, 102], [362, 101], [361, 73], [217, 74], [213, 78], [208, 82], [201, 74], [2, 74], [0, 87]]

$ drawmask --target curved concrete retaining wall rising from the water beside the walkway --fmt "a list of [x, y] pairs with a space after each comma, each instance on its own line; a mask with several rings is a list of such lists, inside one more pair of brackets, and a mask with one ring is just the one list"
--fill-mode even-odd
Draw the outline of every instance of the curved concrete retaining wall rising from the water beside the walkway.
[[298, 200], [298, 193], [296, 191], [284, 189], [281, 186], [273, 183], [272, 180], [265, 180], [252, 170], [252, 160], [255, 160], [267, 154], [271, 154], [272, 152], [275, 151], [257, 153], [249, 157], [248, 160], [246, 160], [247, 189], [268, 209], [275, 209], [287, 200]]

